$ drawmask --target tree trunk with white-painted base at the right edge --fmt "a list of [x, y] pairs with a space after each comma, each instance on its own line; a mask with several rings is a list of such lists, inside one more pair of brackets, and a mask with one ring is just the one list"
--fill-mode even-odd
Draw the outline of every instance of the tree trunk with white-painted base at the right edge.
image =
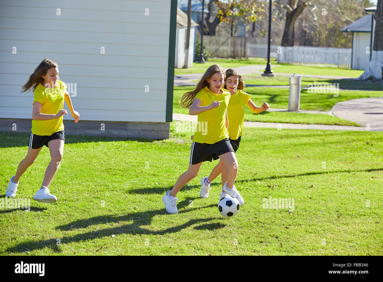
[[[378, 0], [376, 4], [374, 46], [371, 53], [371, 60], [367, 69], [357, 80], [367, 80], [373, 76], [375, 79], [381, 79], [383, 66], [383, 0]], [[372, 32], [372, 31], [371, 31]]]

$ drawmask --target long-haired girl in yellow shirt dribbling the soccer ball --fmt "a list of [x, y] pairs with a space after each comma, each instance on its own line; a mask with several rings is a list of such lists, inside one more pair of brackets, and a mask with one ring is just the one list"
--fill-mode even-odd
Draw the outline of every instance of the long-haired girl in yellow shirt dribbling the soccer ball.
[[240, 203], [243, 202], [234, 186], [238, 163], [229, 142], [226, 109], [230, 93], [222, 88], [224, 79], [223, 68], [214, 64], [203, 74], [196, 89], [182, 96], [181, 105], [189, 108], [190, 115], [198, 115], [198, 123], [190, 149], [188, 170], [178, 177], [173, 189], [167, 191], [162, 198], [168, 213], [178, 213], [176, 195], [183, 186], [198, 175], [202, 163], [218, 158], [223, 163], [223, 169], [226, 170], [227, 182], [224, 183], [226, 193], [237, 198]]

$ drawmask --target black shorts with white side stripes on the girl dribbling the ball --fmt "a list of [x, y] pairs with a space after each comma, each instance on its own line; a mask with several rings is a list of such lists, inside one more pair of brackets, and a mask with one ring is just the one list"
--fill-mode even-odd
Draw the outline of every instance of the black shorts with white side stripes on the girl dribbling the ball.
[[193, 142], [190, 148], [190, 165], [196, 165], [200, 162], [211, 162], [217, 160], [218, 156], [234, 152], [229, 139], [223, 139], [214, 144]]

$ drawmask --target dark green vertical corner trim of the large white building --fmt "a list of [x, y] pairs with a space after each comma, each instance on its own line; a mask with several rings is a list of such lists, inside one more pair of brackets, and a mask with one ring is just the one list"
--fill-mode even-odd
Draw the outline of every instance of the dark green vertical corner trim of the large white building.
[[173, 86], [174, 86], [176, 24], [177, 24], [177, 0], [171, 0], [170, 27], [169, 27], [168, 79], [167, 79], [168, 83], [167, 83], [167, 92], [166, 92], [165, 122], [173, 121]]

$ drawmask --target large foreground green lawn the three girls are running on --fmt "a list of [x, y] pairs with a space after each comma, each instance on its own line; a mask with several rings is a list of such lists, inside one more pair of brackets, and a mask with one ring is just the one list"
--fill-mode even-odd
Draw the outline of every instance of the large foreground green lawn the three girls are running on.
[[[216, 208], [219, 179], [209, 198], [199, 195], [201, 177], [218, 161], [204, 163], [178, 193], [178, 214], [165, 212], [161, 198], [190, 154], [190, 132], [175, 128], [156, 142], [66, 135], [49, 186], [58, 201], [0, 210], [0, 254], [382, 254], [382, 132], [245, 128], [236, 179], [245, 205], [226, 219]], [[0, 132], [3, 197], [27, 139]], [[48, 163], [44, 147], [17, 197], [33, 198]], [[263, 208], [265, 197], [294, 199], [294, 210]]]

